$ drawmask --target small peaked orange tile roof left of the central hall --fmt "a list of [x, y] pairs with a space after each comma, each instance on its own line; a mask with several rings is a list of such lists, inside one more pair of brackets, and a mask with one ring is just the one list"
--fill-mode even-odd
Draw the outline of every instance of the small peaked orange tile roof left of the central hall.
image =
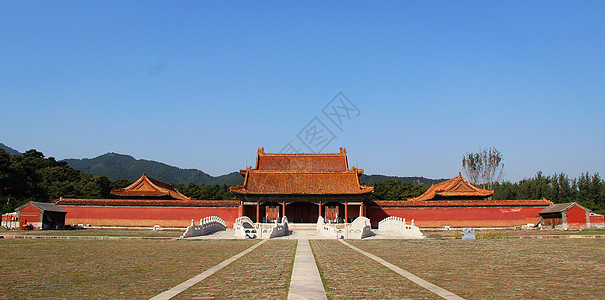
[[122, 197], [169, 197], [178, 200], [191, 200], [181, 194], [172, 184], [147, 177], [145, 173], [133, 184], [117, 190], [111, 190], [111, 194]]

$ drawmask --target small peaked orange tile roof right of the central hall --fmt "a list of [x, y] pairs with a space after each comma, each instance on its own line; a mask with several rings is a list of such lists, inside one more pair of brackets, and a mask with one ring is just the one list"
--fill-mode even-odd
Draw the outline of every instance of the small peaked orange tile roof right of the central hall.
[[458, 177], [433, 185], [424, 194], [416, 198], [410, 198], [408, 201], [424, 201], [447, 197], [489, 197], [493, 194], [493, 190], [480, 189], [466, 181], [462, 174], [458, 173]]

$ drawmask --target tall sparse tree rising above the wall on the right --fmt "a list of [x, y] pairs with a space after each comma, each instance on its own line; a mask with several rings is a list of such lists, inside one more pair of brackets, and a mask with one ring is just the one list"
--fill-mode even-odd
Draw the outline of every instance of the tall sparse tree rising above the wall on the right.
[[462, 157], [462, 167], [468, 180], [484, 189], [491, 189], [494, 182], [500, 181], [504, 175], [502, 153], [493, 147], [465, 154]]

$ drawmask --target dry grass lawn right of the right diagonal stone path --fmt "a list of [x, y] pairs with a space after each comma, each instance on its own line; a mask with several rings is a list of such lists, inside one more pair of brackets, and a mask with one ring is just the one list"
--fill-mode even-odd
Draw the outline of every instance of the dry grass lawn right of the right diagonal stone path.
[[605, 298], [605, 239], [349, 243], [468, 299]]

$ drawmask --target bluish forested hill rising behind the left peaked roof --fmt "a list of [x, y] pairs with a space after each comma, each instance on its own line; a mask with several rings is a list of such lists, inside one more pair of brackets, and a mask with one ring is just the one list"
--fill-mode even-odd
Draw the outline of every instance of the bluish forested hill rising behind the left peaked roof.
[[110, 180], [134, 181], [146, 172], [149, 177], [173, 184], [234, 185], [242, 184], [244, 178], [237, 172], [211, 176], [197, 169], [181, 169], [152, 160], [135, 159], [130, 155], [107, 153], [95, 158], [66, 159], [70, 167]]

